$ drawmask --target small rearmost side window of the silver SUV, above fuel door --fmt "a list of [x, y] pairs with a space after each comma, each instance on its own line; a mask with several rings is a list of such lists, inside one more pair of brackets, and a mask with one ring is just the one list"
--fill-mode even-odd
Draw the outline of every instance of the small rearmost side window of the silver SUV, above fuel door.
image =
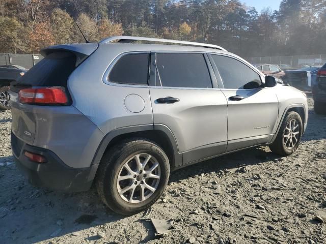
[[122, 56], [115, 64], [108, 80], [122, 84], [146, 85], [148, 81], [149, 54], [135, 53]]

